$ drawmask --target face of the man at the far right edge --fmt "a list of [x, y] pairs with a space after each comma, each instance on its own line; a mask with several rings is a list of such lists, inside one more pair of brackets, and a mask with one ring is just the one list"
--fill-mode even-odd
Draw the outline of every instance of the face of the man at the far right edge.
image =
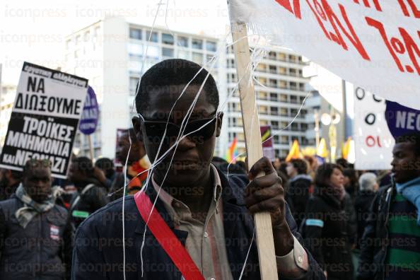
[[420, 176], [420, 156], [410, 142], [395, 144], [392, 150], [392, 173], [397, 183], [404, 183]]

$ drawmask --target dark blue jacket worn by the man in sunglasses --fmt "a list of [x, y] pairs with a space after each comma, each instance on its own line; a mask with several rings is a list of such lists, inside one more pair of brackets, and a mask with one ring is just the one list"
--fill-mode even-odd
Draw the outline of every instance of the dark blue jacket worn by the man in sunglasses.
[[[243, 175], [234, 175], [229, 177], [229, 180], [220, 172], [219, 175], [223, 189], [223, 225], [226, 250], [233, 279], [238, 279], [254, 231], [252, 216], [243, 206], [243, 191], [248, 181], [247, 177]], [[156, 198], [153, 187], [148, 187], [146, 193], [153, 202]], [[148, 228], [144, 234], [145, 223], [136, 208], [134, 197], [125, 197], [124, 209], [127, 280], [181, 279], [180, 272]], [[173, 228], [173, 221], [170, 220], [160, 199], [156, 202], [156, 209], [168, 226], [173, 229], [181, 243], [185, 245], [187, 232]], [[286, 219], [293, 235], [301, 240], [301, 235], [297, 232], [296, 223], [288, 208]], [[141, 254], [143, 241], [144, 247]], [[302, 240], [301, 244], [303, 244]], [[123, 279], [122, 199], [108, 204], [89, 216], [78, 228], [74, 246], [72, 279]], [[310, 269], [305, 274], [305, 279], [325, 279], [320, 267], [308, 251], [307, 253]], [[250, 249], [243, 279], [259, 279], [255, 240]]]

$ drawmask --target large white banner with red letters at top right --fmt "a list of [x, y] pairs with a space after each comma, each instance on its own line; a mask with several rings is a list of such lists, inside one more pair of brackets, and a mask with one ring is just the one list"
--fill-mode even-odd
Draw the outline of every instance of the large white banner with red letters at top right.
[[420, 0], [229, 0], [232, 23], [420, 109]]

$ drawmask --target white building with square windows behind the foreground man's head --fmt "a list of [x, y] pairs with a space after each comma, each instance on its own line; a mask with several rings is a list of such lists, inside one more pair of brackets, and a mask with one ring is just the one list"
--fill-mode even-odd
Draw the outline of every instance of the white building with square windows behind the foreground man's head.
[[[67, 36], [66, 65], [62, 70], [88, 78], [97, 93], [100, 119], [91, 136], [93, 156], [115, 157], [117, 129], [132, 126], [136, 84], [147, 69], [174, 57], [206, 64], [220, 43], [204, 35], [172, 33], [156, 27], [152, 30], [123, 18], [105, 18]], [[224, 62], [217, 60], [211, 71], [219, 88], [225, 87]], [[78, 133], [74, 146], [78, 154], [88, 156], [87, 136]]]

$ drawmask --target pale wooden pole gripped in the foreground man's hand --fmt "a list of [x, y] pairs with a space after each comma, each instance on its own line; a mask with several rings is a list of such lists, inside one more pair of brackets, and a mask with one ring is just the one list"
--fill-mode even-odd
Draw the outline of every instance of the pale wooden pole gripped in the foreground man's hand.
[[[248, 166], [251, 167], [262, 158], [261, 132], [257, 104], [255, 103], [254, 82], [250, 72], [250, 47], [248, 45], [245, 23], [232, 27], [233, 49], [235, 52], [236, 71], [238, 72], [240, 107], [242, 110], [245, 147]], [[261, 175], [259, 175], [261, 176]], [[258, 176], [258, 177], [259, 177]], [[274, 252], [272, 218], [268, 212], [254, 215], [257, 233], [259, 269], [262, 280], [277, 280], [277, 264]]]

